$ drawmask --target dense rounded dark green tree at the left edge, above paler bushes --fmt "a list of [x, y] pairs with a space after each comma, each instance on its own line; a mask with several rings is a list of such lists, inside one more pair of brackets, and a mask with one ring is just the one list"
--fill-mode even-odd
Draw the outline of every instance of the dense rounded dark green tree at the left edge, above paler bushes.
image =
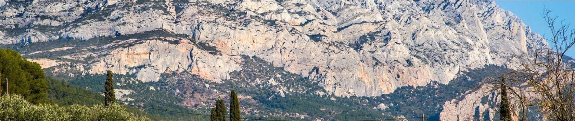
[[[0, 49], [0, 73], [2, 73], [3, 86], [6, 87], [6, 78], [9, 80], [10, 94], [22, 95], [32, 103], [46, 102], [46, 81], [44, 71], [37, 63], [25, 60], [18, 52], [11, 49]], [[6, 90], [2, 90], [5, 93]]]

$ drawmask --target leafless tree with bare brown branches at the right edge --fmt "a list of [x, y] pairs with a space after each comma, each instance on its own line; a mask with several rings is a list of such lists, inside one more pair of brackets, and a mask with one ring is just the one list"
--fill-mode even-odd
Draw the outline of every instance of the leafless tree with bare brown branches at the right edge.
[[[551, 10], [543, 9], [543, 18], [551, 31], [547, 41], [551, 48], [538, 48], [528, 56], [516, 57], [519, 65], [493, 79], [492, 85], [507, 88], [515, 120], [529, 120], [530, 113], [540, 112], [542, 120], [575, 120], [575, 61], [565, 53], [575, 45], [575, 30], [569, 24], [557, 25]], [[500, 89], [492, 86], [492, 89]]]

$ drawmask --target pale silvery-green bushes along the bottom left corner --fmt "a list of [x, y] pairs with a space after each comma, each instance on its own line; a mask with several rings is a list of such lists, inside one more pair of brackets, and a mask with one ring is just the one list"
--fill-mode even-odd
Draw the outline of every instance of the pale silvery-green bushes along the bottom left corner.
[[137, 117], [118, 104], [60, 107], [52, 104], [32, 104], [20, 95], [0, 98], [2, 120], [150, 120]]

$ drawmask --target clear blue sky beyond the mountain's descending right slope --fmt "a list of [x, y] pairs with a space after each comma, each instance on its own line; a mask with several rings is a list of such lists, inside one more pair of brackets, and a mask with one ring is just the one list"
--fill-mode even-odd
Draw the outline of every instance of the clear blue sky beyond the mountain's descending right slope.
[[[571, 29], [575, 29], [575, 1], [495, 1], [495, 3], [517, 15], [531, 27], [533, 32], [545, 35], [545, 38], [550, 38], [551, 32], [541, 17], [543, 7], [553, 10], [551, 15], [557, 15], [559, 22], [564, 19], [563, 23], [571, 23]], [[575, 57], [575, 48], [570, 49], [566, 55]]]

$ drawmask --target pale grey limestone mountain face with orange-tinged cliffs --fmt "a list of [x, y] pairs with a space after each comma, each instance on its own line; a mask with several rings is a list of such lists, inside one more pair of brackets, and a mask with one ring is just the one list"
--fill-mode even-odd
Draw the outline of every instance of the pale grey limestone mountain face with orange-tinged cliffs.
[[[64, 58], [45, 67], [74, 61], [59, 71], [112, 70], [141, 81], [188, 71], [220, 82], [246, 55], [338, 96], [446, 84], [461, 68], [548, 48], [492, 1], [0, 1], [0, 8], [0, 44], [45, 45], [21, 50], [34, 61]], [[77, 42], [56, 49], [67, 47], [63, 40]], [[69, 53], [37, 56], [54, 52]]]

